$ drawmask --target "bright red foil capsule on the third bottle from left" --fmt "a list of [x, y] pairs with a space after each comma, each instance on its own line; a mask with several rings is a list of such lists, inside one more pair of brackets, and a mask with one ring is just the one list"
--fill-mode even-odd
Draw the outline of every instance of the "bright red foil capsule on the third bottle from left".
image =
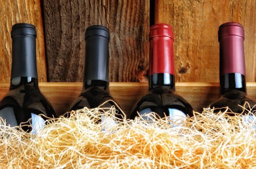
[[167, 24], [155, 24], [150, 28], [150, 72], [170, 73], [174, 71], [174, 35], [172, 27]]

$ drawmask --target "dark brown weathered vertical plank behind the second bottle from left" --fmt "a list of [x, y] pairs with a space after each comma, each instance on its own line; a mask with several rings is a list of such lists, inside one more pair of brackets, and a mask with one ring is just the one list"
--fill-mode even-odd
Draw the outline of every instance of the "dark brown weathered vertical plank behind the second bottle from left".
[[110, 81], [143, 81], [149, 58], [149, 0], [44, 0], [50, 82], [81, 82], [85, 29], [110, 30]]

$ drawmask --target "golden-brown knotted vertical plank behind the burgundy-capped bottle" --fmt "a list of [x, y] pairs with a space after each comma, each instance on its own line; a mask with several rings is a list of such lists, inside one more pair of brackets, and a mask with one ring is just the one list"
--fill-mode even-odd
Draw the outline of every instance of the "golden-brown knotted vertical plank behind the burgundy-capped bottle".
[[256, 81], [256, 0], [155, 0], [155, 23], [173, 26], [178, 82], [218, 82], [218, 27], [245, 29], [247, 81]]

